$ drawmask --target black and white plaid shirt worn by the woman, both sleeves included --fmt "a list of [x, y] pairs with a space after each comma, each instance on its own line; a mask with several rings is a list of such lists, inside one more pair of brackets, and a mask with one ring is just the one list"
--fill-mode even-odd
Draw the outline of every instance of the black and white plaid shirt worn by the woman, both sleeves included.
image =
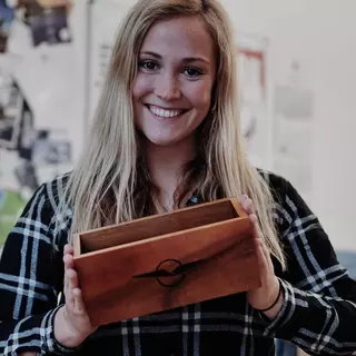
[[[71, 211], [58, 216], [63, 178], [42, 185], [9, 235], [0, 261], [0, 354], [41, 355], [273, 355], [274, 338], [312, 355], [356, 355], [356, 283], [337, 261], [318, 219], [293, 186], [265, 172], [278, 208], [276, 224], [287, 256], [285, 303], [274, 320], [246, 294], [189, 305], [100, 327], [77, 349], [59, 345], [53, 317], [62, 290], [62, 250]], [[191, 197], [187, 205], [198, 204]], [[53, 236], [55, 219], [61, 230]], [[238, 274], [238, 271], [237, 271]]]

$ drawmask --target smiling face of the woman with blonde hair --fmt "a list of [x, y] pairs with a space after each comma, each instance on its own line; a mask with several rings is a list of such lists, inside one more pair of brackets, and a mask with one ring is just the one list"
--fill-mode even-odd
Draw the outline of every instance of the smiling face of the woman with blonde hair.
[[154, 145], [191, 142], [210, 109], [215, 79], [215, 46], [199, 16], [157, 22], [139, 52], [136, 126]]

